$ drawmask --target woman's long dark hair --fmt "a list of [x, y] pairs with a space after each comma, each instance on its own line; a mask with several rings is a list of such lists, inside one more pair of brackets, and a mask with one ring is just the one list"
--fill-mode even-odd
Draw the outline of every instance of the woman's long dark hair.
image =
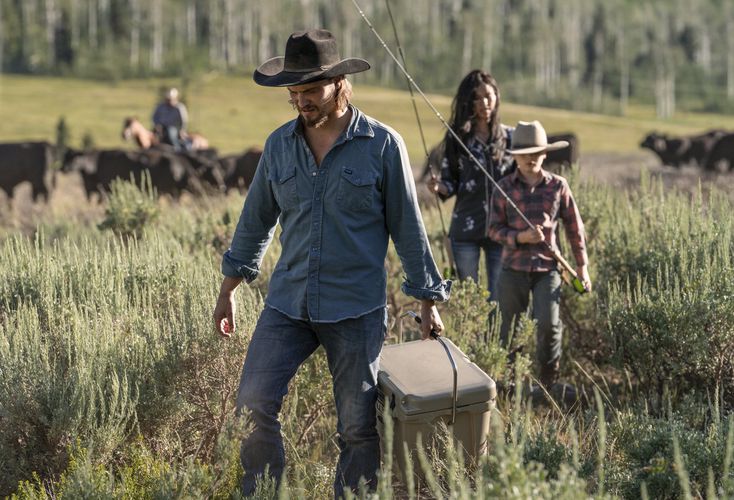
[[[500, 89], [497, 81], [492, 75], [486, 71], [475, 69], [469, 72], [456, 91], [454, 101], [451, 103], [451, 119], [449, 125], [451, 129], [466, 144], [467, 140], [474, 133], [474, 99], [476, 99], [476, 90], [479, 85], [487, 84], [494, 90], [497, 96], [497, 102], [489, 116], [489, 140], [488, 143], [493, 146], [493, 158], [499, 160], [505, 149], [505, 136], [500, 127]], [[458, 171], [459, 156], [463, 149], [456, 143], [456, 139], [446, 132], [444, 137], [444, 147], [446, 151], [446, 159], [453, 171]]]

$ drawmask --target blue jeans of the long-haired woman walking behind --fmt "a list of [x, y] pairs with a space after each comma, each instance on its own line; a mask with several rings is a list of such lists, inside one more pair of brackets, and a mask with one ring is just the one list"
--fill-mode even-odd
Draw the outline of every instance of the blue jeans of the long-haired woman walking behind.
[[502, 270], [502, 245], [489, 238], [479, 241], [451, 240], [451, 251], [454, 254], [456, 271], [459, 279], [467, 278], [479, 283], [479, 253], [484, 250], [484, 262], [487, 267], [487, 291], [490, 300], [497, 300], [497, 284]]

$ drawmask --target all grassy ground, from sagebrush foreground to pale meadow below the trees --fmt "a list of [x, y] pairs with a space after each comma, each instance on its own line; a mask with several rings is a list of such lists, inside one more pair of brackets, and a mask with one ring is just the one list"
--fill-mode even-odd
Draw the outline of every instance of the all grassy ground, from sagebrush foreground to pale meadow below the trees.
[[[122, 119], [147, 120], [158, 89], [171, 84], [180, 86], [3, 76], [0, 140], [53, 141], [63, 115], [73, 145], [88, 132], [99, 147], [120, 147]], [[293, 114], [284, 91], [244, 77], [204, 76], [186, 94], [192, 128], [225, 153], [262, 144]], [[431, 99], [448, 114], [448, 97]], [[357, 85], [355, 103], [398, 129], [420, 161], [406, 92]], [[485, 336], [483, 288], [455, 283], [440, 306], [447, 335], [504, 387], [519, 382], [517, 392], [500, 393], [489, 453], [476, 468], [461, 454], [427, 459], [418, 489], [401, 484], [386, 457], [371, 498], [734, 498], [734, 220], [719, 190], [729, 176], [699, 192], [698, 171], [646, 175], [625, 163], [639, 158], [651, 129], [734, 128], [734, 119], [661, 122], [642, 107], [622, 118], [511, 103], [503, 113], [507, 123], [538, 118], [549, 131], [576, 132], [582, 165], [584, 154], [616, 156], [635, 174], [621, 190], [585, 177], [590, 168], [568, 173], [595, 283], [583, 296], [563, 290], [562, 380], [581, 397], [529, 397], [534, 324], [515, 339], [523, 349], [509, 365], [496, 335]], [[440, 126], [423, 115], [435, 142]], [[691, 189], [665, 189], [671, 180]], [[239, 288], [239, 332], [224, 341], [210, 318], [241, 195], [172, 201], [123, 183], [112, 202], [96, 204], [69, 174], [48, 204], [24, 198], [12, 211], [0, 206], [0, 496], [239, 498], [234, 391], [278, 242], [262, 277]], [[423, 214], [438, 256], [437, 211]], [[396, 342], [415, 334], [399, 318], [417, 304], [400, 292], [394, 250], [386, 269], [388, 342]], [[319, 351], [289, 388], [280, 498], [331, 496], [339, 451], [327, 371]], [[273, 497], [267, 485], [258, 496]]]

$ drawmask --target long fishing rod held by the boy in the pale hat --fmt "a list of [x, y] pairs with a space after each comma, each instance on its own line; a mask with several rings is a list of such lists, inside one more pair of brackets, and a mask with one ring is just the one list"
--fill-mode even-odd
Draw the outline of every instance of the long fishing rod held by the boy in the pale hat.
[[[403, 65], [400, 64], [400, 61], [398, 60], [397, 57], [395, 57], [395, 54], [392, 53], [392, 51], [390, 50], [390, 47], [387, 46], [387, 44], [382, 39], [382, 37], [380, 36], [380, 34], [377, 33], [377, 30], [374, 28], [374, 26], [372, 26], [372, 23], [370, 22], [370, 20], [367, 19], [367, 16], [362, 11], [362, 8], [357, 3], [357, 0], [352, 0], [352, 3], [354, 4], [354, 6], [356, 7], [357, 11], [359, 12], [359, 15], [362, 16], [362, 19], [364, 20], [364, 22], [370, 28], [370, 30], [375, 35], [375, 37], [377, 38], [377, 40], [380, 42], [380, 44], [382, 45], [382, 47], [385, 49], [385, 51], [388, 53], [388, 55], [392, 58], [392, 60], [395, 61], [395, 64], [397, 65], [398, 69], [400, 69], [400, 71], [408, 79], [408, 82], [413, 86], [413, 88], [416, 90], [416, 92], [418, 92], [418, 94], [423, 98], [423, 101], [426, 103], [426, 105], [429, 108], [431, 108], [431, 111], [433, 111], [433, 113], [436, 115], [436, 117], [441, 121], [441, 124], [444, 126], [444, 128], [446, 128], [446, 130], [449, 132], [449, 134], [451, 134], [451, 136], [456, 140], [456, 142], [459, 144], [459, 146], [464, 150], [464, 152], [474, 162], [474, 164], [479, 168], [479, 170], [482, 173], [484, 173], [485, 176], [487, 176], [487, 178], [490, 180], [490, 182], [492, 182], [492, 184], [494, 185], [495, 190], [497, 192], [499, 192], [500, 195], [502, 195], [505, 198], [505, 200], [507, 200], [507, 203], [513, 209], [515, 209], [515, 211], [520, 216], [520, 218], [523, 220], [523, 222], [525, 222], [525, 224], [527, 224], [527, 226], [530, 229], [535, 229], [535, 225], [532, 222], [530, 222], [530, 219], [528, 219], [527, 216], [525, 216], [525, 214], [522, 212], [522, 210], [520, 210], [520, 208], [515, 204], [515, 202], [512, 201], [512, 198], [510, 198], [510, 196], [499, 186], [499, 184], [497, 184], [497, 181], [495, 181], [494, 178], [492, 178], [492, 176], [489, 174], [489, 172], [487, 172], [487, 170], [479, 162], [479, 160], [472, 154], [471, 151], [469, 151], [469, 148], [466, 147], [466, 145], [461, 140], [461, 138], [456, 134], [456, 132], [454, 132], [454, 130], [446, 122], [446, 120], [443, 118], [443, 116], [441, 116], [441, 113], [438, 111], [438, 109], [436, 109], [436, 107], [433, 105], [433, 103], [431, 103], [431, 101], [428, 99], [428, 97], [426, 96], [426, 94], [423, 93], [423, 91], [418, 86], [418, 84], [415, 82], [415, 80], [413, 80], [413, 77], [410, 76], [410, 73], [408, 73], [408, 71], [405, 69], [405, 67], [403, 67]], [[568, 273], [568, 275], [570, 276], [570, 278], [568, 278], [568, 282], [571, 284], [571, 286], [574, 288], [574, 290], [576, 290], [579, 293], [585, 293], [585, 292], [587, 292], [588, 290], [586, 289], [586, 286], [584, 285], [584, 283], [579, 278], [578, 273], [576, 272], [576, 270], [571, 267], [571, 265], [568, 263], [568, 261], [563, 258], [563, 256], [558, 252], [558, 250], [556, 250], [555, 248], [553, 248], [550, 245], [550, 243], [548, 243], [545, 240], [543, 240], [543, 244], [545, 245], [545, 247], [547, 248], [547, 250], [550, 252], [551, 256], [555, 259], [555, 261], [558, 262], [558, 264], [561, 265], [561, 267], [563, 268], [563, 270], [566, 273]]]

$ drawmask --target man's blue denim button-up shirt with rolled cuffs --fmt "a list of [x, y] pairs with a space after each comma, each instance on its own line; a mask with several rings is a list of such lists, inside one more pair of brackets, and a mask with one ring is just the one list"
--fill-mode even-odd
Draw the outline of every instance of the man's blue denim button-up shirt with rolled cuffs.
[[298, 119], [268, 137], [222, 272], [251, 282], [273, 237], [280, 259], [265, 303], [295, 318], [336, 322], [386, 304], [385, 256], [392, 237], [404, 293], [448, 300], [418, 208], [405, 144], [350, 106], [349, 125], [320, 166]]

